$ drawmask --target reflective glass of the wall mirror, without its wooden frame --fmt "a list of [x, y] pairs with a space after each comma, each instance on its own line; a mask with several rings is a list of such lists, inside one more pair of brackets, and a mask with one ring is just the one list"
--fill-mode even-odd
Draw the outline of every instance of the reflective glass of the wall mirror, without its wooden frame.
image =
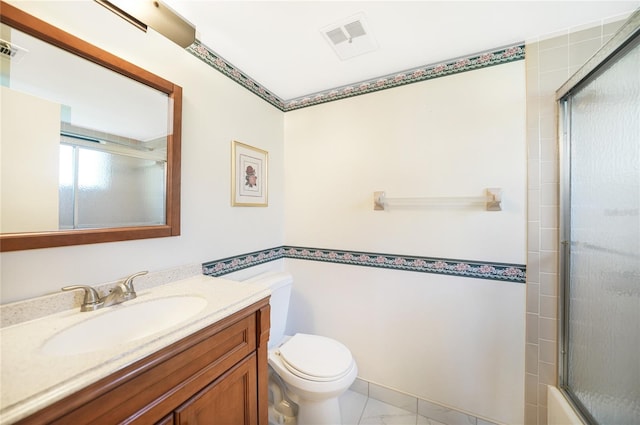
[[7, 29], [2, 233], [164, 224], [168, 96]]

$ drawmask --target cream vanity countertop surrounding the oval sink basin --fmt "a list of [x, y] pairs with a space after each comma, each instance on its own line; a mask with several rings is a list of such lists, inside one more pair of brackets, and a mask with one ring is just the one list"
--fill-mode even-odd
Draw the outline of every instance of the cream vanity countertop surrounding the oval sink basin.
[[[138, 361], [270, 294], [266, 287], [198, 275], [138, 291], [123, 304], [93, 312], [79, 309], [0, 329], [0, 424], [10, 424]], [[56, 333], [111, 309], [154, 298], [197, 295], [206, 307], [162, 332], [107, 349], [75, 355], [45, 354], [42, 344]]]

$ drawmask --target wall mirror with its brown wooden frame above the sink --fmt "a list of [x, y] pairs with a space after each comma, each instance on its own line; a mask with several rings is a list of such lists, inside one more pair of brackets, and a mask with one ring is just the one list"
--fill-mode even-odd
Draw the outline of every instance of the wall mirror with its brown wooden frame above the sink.
[[0, 251], [179, 235], [182, 88], [4, 1], [0, 23]]

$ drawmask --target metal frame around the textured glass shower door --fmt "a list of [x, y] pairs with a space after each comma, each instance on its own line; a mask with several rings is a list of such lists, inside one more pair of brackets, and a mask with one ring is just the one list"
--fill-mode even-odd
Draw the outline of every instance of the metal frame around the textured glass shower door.
[[569, 113], [573, 93], [579, 91], [593, 78], [605, 72], [610, 60], [624, 50], [640, 43], [640, 9], [637, 10], [591, 59], [585, 63], [565, 84], [556, 91], [558, 111], [558, 140], [560, 161], [559, 188], [559, 292], [558, 292], [558, 387], [575, 413], [585, 424], [597, 424], [586, 407], [573, 395], [568, 386], [569, 345], [569, 283], [570, 283], [570, 232], [571, 232], [571, 181], [570, 142], [571, 121]]

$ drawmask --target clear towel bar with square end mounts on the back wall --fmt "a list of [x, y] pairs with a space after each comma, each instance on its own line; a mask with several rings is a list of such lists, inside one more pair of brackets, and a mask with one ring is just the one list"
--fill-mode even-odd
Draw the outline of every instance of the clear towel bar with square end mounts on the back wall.
[[450, 196], [450, 197], [417, 197], [390, 198], [385, 192], [373, 192], [373, 209], [383, 211], [392, 207], [427, 208], [427, 207], [472, 207], [483, 206], [486, 211], [502, 211], [502, 189], [488, 188], [484, 196]]

